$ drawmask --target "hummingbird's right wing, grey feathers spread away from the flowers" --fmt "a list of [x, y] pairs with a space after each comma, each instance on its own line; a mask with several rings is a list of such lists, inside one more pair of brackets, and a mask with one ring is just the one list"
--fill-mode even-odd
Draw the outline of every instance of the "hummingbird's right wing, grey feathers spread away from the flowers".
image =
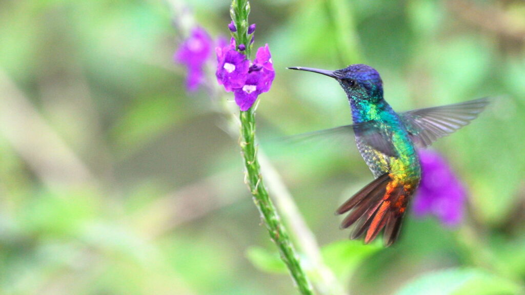
[[447, 106], [418, 109], [400, 114], [414, 144], [426, 148], [438, 138], [446, 136], [470, 123], [489, 104], [481, 98]]

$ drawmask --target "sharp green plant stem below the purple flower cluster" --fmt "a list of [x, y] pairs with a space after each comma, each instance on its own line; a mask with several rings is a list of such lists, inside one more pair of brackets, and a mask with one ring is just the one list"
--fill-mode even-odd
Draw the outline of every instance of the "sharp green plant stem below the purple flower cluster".
[[313, 294], [312, 287], [303, 271], [299, 256], [293, 248], [290, 237], [282, 225], [274, 204], [271, 202], [266, 187], [262, 182], [260, 165], [257, 160], [257, 148], [255, 146], [255, 114], [253, 108], [240, 112], [241, 141], [240, 147], [243, 152], [246, 167], [246, 180], [250, 192], [261, 218], [264, 220], [270, 238], [279, 248], [281, 259], [285, 262], [290, 275], [296, 283], [301, 294]]

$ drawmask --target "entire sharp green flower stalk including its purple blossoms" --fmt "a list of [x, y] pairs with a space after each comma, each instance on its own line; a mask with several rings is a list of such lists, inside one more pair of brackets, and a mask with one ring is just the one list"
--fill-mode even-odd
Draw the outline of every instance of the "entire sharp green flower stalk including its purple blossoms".
[[229, 45], [216, 50], [216, 77], [226, 91], [234, 92], [235, 102], [240, 108], [239, 143], [246, 167], [246, 183], [254, 197], [255, 205], [300, 293], [313, 294], [310, 282], [301, 267], [299, 255], [262, 181], [255, 143], [254, 103], [260, 93], [270, 89], [275, 71], [268, 45], [259, 48], [253, 62], [249, 61], [255, 32], [255, 24], [248, 23], [249, 13], [250, 6], [246, 0], [233, 0], [230, 8], [233, 22], [228, 25], [233, 38]]

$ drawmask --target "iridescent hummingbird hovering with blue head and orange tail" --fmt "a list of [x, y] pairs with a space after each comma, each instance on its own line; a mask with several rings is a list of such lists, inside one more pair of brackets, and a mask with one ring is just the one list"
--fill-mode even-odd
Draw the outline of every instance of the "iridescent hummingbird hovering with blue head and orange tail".
[[[467, 125], [485, 109], [488, 98], [447, 106], [395, 112], [383, 98], [383, 81], [374, 68], [350, 65], [340, 70], [290, 67], [332, 77], [350, 103], [353, 124], [312, 132], [352, 133], [374, 180], [344, 202], [336, 214], [345, 214], [341, 228], [352, 225], [351, 239], [364, 243], [383, 231], [384, 245], [392, 245], [401, 229], [408, 203], [421, 181], [417, 149]], [[307, 133], [307, 134], [312, 134]]]

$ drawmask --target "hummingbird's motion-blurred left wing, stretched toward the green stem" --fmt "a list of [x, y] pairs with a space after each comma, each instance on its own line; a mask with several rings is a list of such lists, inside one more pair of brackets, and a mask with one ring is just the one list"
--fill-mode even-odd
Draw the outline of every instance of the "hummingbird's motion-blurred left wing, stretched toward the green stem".
[[326, 139], [333, 140], [351, 140], [352, 134], [358, 136], [365, 144], [370, 145], [375, 150], [387, 156], [397, 156], [391, 139], [380, 128], [377, 121], [367, 121], [363, 123], [344, 125], [340, 127], [302, 133], [288, 136], [284, 139], [288, 143], [297, 143], [305, 141], [322, 141]]

